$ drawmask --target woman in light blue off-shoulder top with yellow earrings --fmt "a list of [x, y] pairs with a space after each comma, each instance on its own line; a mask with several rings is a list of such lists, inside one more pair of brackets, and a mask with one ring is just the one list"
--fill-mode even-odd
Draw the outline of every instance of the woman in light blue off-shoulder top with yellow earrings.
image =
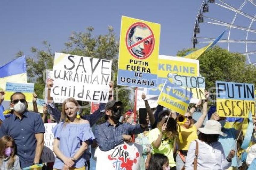
[[85, 150], [95, 138], [89, 122], [80, 119], [79, 108], [74, 98], [66, 99], [62, 105], [62, 121], [52, 129], [54, 169], [86, 169]]

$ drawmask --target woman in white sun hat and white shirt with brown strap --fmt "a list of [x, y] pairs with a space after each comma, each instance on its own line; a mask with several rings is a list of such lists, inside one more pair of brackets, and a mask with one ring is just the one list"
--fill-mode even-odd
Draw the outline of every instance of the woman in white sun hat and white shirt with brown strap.
[[[231, 150], [226, 157], [223, 147], [218, 142], [219, 135], [226, 136], [221, 132], [221, 124], [216, 120], [208, 120], [204, 128], [198, 128], [198, 170], [222, 170], [231, 166], [231, 159], [235, 156], [235, 151]], [[185, 169], [193, 170], [195, 158], [196, 142], [192, 141], [186, 157]]]

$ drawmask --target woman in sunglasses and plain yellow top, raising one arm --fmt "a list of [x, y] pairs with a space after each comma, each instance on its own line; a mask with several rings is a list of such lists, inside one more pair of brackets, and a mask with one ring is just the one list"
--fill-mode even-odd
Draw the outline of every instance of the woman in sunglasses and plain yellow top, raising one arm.
[[[208, 99], [209, 93], [205, 92], [204, 95], [206, 99]], [[192, 119], [192, 112], [191, 112], [192, 110], [190, 110], [185, 114], [185, 118], [186, 118], [185, 123], [181, 124], [180, 127], [178, 128], [179, 137], [177, 138], [178, 153], [176, 155], [176, 167], [179, 170], [182, 169], [182, 167], [185, 165], [189, 144], [198, 138], [197, 129], [203, 125], [204, 119], [207, 115], [207, 100], [200, 101], [198, 102], [197, 105], [200, 105], [201, 102], [203, 102], [202, 115], [198, 119], [198, 121], [194, 123]], [[195, 111], [195, 109], [193, 110]]]

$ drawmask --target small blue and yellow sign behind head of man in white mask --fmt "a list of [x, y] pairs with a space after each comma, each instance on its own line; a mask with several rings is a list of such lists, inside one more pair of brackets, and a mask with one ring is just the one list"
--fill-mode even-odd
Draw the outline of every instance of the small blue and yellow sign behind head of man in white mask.
[[27, 102], [32, 102], [34, 93], [34, 83], [6, 83], [5, 101], [10, 101], [10, 97], [15, 92], [21, 92], [25, 95]]

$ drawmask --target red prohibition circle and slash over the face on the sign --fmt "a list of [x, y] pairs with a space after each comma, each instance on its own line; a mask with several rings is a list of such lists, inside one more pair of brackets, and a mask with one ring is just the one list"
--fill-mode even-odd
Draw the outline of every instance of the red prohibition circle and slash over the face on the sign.
[[[146, 28], [150, 31], [151, 35], [149, 35], [148, 37], [145, 37], [145, 38], [139, 40], [138, 42], [136, 42], [136, 43], [134, 43], [134, 44], [131, 44], [131, 45], [129, 46], [129, 45], [128, 45], [128, 40], [130, 41], [130, 39], [129, 39], [129, 33], [130, 33], [131, 29], [135, 28], [136, 26], [146, 27]], [[134, 34], [134, 32], [133, 32], [133, 34]], [[145, 50], [145, 42], [148, 41], [148, 39], [150, 39], [150, 38], [152, 38], [152, 39], [151, 39], [152, 42], [149, 42], [149, 45], [146, 45], [146, 46], [149, 46], [149, 47], [147, 47], [147, 49], [146, 49], [147, 51], [146, 51], [146, 52], [143, 52], [143, 50]], [[151, 40], [150, 40], [150, 41], [151, 41]], [[148, 58], [148, 57], [151, 55], [151, 53], [152, 53], [153, 50], [154, 50], [154, 47], [155, 47], [155, 36], [154, 36], [154, 34], [153, 34], [153, 31], [150, 29], [150, 27], [149, 27], [148, 25], [146, 25], [145, 23], [137, 22], [137, 23], [132, 24], [132, 25], [129, 27], [129, 29], [127, 30], [125, 42], [126, 42], [126, 48], [127, 48], [127, 50], [129, 51], [129, 53], [130, 53], [134, 58], [136, 58], [136, 59], [146, 59], [146, 58]], [[139, 54], [145, 53], [144, 56], [138, 56], [138, 55], [136, 54], [136, 52], [133, 52], [133, 48], [136, 48], [136, 46], [139, 46], [139, 45], [141, 46], [141, 43], [143, 43], [144, 49], [141, 50], [141, 48], [139, 48], [140, 51], [137, 52], [137, 53], [139, 53]], [[137, 47], [137, 49], [138, 49], [138, 47]]]

